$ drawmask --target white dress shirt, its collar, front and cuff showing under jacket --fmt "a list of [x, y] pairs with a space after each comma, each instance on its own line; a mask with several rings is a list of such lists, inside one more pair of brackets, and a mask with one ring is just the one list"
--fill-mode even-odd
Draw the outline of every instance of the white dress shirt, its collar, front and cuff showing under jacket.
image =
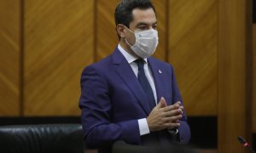
[[[125, 49], [120, 46], [120, 44], [119, 44], [118, 48], [119, 48], [119, 51], [121, 52], [121, 54], [123, 54], [125, 56], [125, 59], [131, 65], [131, 69], [137, 77], [138, 68], [137, 68], [137, 63], [135, 62], [137, 57], [127, 53], [125, 51]], [[154, 78], [152, 75], [152, 71], [151, 71], [150, 67], [148, 66], [148, 59], [144, 59], [144, 60], [145, 60], [145, 64], [144, 64], [145, 75], [148, 78], [148, 82], [153, 90], [155, 104], [157, 104], [156, 91], [155, 91]], [[138, 125], [139, 125], [139, 129], [140, 129], [140, 135], [150, 133], [149, 128], [148, 128], [148, 122], [147, 122], [146, 118], [139, 119]]]

